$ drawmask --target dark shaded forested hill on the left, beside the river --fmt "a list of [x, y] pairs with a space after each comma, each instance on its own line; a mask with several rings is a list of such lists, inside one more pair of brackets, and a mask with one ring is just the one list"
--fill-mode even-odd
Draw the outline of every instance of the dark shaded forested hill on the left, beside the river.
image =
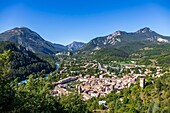
[[48, 73], [53, 70], [48, 62], [40, 59], [31, 51], [27, 51], [21, 45], [12, 42], [0, 42], [0, 53], [5, 50], [11, 51], [10, 77], [19, 77], [22, 80], [32, 73], [41, 72], [42, 70]]

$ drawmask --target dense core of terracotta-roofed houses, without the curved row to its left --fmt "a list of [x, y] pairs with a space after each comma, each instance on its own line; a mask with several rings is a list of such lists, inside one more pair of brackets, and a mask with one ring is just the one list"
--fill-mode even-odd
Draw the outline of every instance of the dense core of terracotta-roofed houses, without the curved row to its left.
[[79, 77], [77, 80], [81, 84], [77, 85], [78, 92], [83, 96], [83, 100], [92, 97], [105, 97], [112, 90], [121, 90], [130, 87], [136, 82], [136, 76], [123, 76], [122, 78], [96, 78], [95, 76]]

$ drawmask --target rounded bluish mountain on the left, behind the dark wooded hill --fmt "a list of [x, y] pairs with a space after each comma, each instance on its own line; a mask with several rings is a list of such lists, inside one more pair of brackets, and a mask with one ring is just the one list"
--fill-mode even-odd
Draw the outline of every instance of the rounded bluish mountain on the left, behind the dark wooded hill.
[[26, 27], [16, 27], [1, 33], [0, 41], [15, 42], [27, 50], [45, 54], [55, 54], [57, 51], [65, 50], [65, 46], [45, 41], [39, 34]]

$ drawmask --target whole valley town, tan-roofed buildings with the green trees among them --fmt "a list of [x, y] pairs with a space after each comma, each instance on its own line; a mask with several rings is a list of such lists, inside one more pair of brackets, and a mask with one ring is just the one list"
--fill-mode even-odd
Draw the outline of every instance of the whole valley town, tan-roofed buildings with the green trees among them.
[[134, 61], [128, 64], [114, 61], [109, 65], [101, 65], [95, 60], [85, 59], [83, 61], [81, 59], [78, 63], [76, 58], [73, 58], [71, 62], [64, 61], [60, 66], [62, 67], [58, 70], [58, 76], [65, 77], [52, 82], [55, 87], [51, 93], [55, 96], [62, 96], [77, 90], [84, 101], [93, 97], [105, 97], [113, 90], [118, 93], [135, 84], [137, 79], [139, 79], [140, 87], [144, 88], [146, 76], [156, 78], [169, 71], [159, 66], [147, 68], [144, 65], [136, 65]]

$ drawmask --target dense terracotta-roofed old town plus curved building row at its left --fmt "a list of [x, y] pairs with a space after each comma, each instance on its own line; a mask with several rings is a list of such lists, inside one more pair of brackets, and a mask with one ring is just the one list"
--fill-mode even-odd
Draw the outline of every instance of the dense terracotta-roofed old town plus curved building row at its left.
[[105, 97], [112, 90], [121, 90], [130, 87], [136, 82], [138, 76], [123, 76], [122, 78], [96, 78], [95, 76], [86, 75], [68, 77], [58, 82], [53, 82], [55, 88], [51, 91], [53, 95], [61, 96], [71, 93], [67, 90], [66, 83], [71, 81], [79, 81], [76, 84], [78, 93], [83, 96], [83, 100], [91, 99], [92, 97]]

